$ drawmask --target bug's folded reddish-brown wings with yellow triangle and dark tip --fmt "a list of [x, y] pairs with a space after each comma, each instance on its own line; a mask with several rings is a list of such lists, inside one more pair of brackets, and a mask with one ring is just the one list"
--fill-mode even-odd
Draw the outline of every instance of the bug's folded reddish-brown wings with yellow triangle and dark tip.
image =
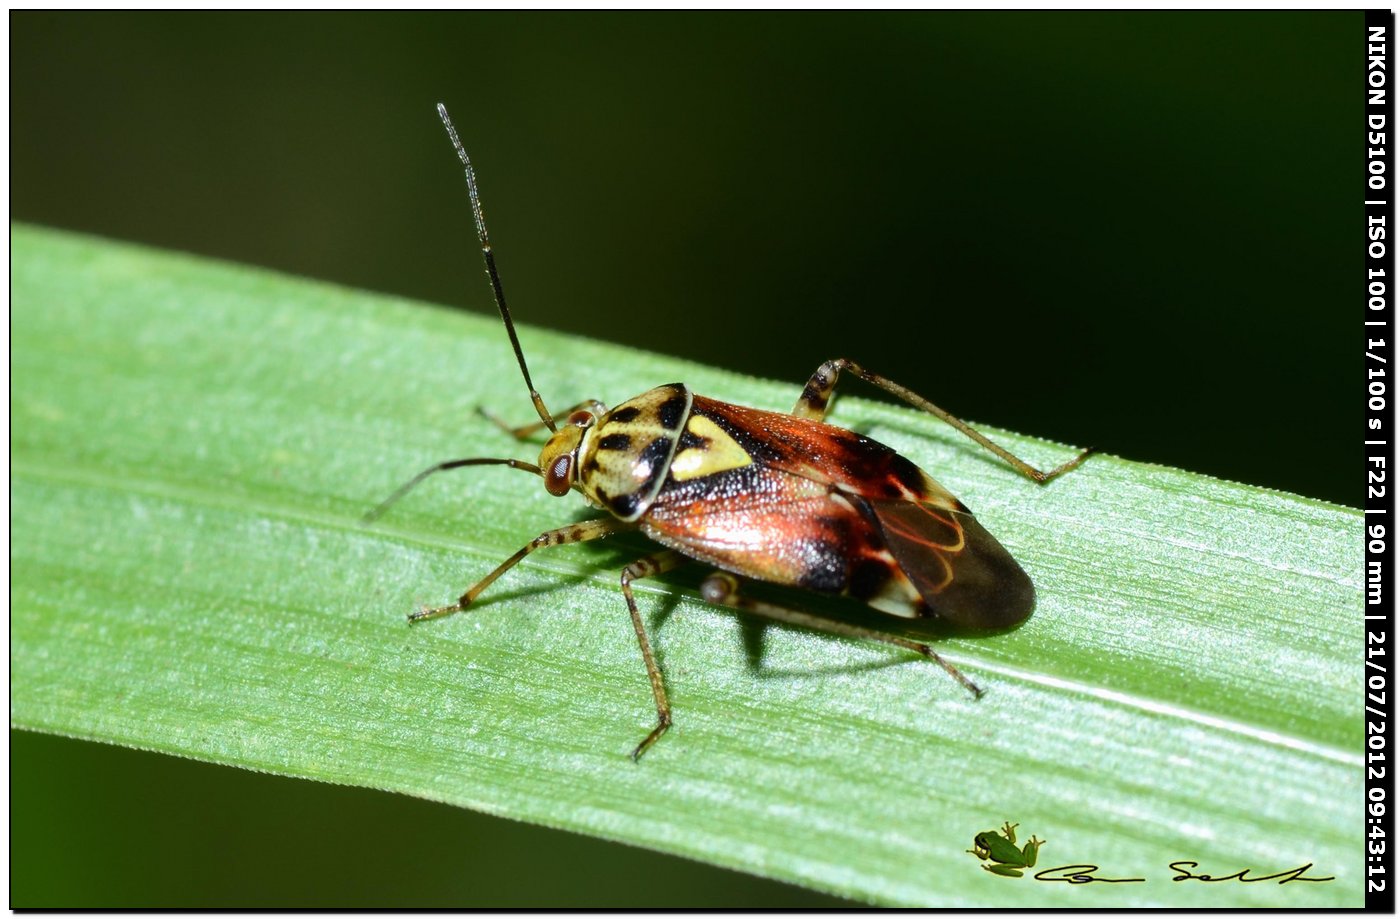
[[970, 628], [1014, 625], [1035, 605], [967, 509], [868, 437], [694, 396], [676, 462], [638, 523], [692, 558]]

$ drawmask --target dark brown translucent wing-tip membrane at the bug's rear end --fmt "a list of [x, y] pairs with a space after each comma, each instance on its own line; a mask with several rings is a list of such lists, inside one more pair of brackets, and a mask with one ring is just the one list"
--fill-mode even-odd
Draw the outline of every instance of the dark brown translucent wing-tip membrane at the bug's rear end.
[[970, 629], [1023, 622], [1036, 605], [1030, 577], [977, 518], [917, 502], [867, 499], [885, 545], [930, 612]]

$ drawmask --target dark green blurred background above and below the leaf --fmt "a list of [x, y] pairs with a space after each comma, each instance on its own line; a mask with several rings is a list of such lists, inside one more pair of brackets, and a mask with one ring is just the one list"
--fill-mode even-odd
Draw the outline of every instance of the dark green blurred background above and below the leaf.
[[[1359, 13], [10, 24], [14, 219], [489, 311], [441, 99], [524, 322], [794, 396], [848, 356], [972, 420], [1359, 503]], [[587, 395], [580, 367], [545, 398]], [[11, 744], [15, 906], [826, 902], [410, 799]]]

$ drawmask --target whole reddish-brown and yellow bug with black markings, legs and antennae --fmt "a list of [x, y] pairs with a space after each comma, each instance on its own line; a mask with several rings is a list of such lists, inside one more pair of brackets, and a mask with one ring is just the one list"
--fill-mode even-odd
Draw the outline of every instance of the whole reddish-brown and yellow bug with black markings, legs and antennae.
[[577, 490], [610, 516], [539, 534], [456, 602], [413, 612], [409, 622], [466, 609], [535, 549], [640, 530], [662, 549], [622, 572], [622, 594], [657, 702], [657, 726], [633, 749], [633, 759], [671, 727], [671, 703], [631, 583], [690, 559], [717, 569], [700, 587], [710, 602], [916, 651], [981, 695], [981, 689], [927, 644], [752, 600], [741, 593], [739, 579], [846, 595], [892, 616], [941, 621], [963, 629], [1004, 629], [1030, 615], [1035, 607], [1030, 579], [962, 502], [889, 447], [825, 423], [827, 402], [843, 371], [942, 419], [1042, 485], [1084, 462], [1092, 448], [1042, 472], [932, 402], [844, 359], [818, 367], [790, 415], [708, 399], [679, 382], [657, 387], [612, 409], [588, 399], [552, 415], [535, 389], [505, 307], [472, 161], [447, 108], [440, 104], [437, 111], [462, 161], [486, 275], [539, 415], [538, 422], [514, 429], [496, 423], [517, 438], [542, 429], [549, 429], [550, 437], [538, 465], [483, 457], [430, 467], [385, 499], [367, 520], [377, 518], [427, 476], [470, 465], [524, 469], [540, 476], [550, 495]]

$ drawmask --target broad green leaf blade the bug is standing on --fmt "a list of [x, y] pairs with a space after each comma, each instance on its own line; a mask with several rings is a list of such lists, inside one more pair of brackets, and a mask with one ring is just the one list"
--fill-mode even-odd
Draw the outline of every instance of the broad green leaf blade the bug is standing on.
[[[533, 555], [469, 615], [409, 628], [536, 532], [581, 518], [482, 469], [358, 517], [427, 464], [518, 455], [529, 417], [494, 319], [13, 227], [11, 723], [389, 789], [857, 899], [931, 905], [1362, 901], [1361, 516], [1095, 457], [1039, 489], [955, 433], [846, 398], [972, 506], [1036, 580], [1014, 633], [941, 653], [763, 633], [638, 590], [676, 727], [640, 765], [650, 691], [623, 537]], [[522, 328], [546, 399], [658, 382], [790, 408], [752, 381]], [[813, 366], [826, 356], [815, 356]], [[931, 394], [937, 398], [937, 394]], [[993, 433], [1032, 462], [1068, 450]], [[1004, 820], [1037, 870], [965, 852]], [[1172, 883], [1173, 860], [1326, 884]]]

